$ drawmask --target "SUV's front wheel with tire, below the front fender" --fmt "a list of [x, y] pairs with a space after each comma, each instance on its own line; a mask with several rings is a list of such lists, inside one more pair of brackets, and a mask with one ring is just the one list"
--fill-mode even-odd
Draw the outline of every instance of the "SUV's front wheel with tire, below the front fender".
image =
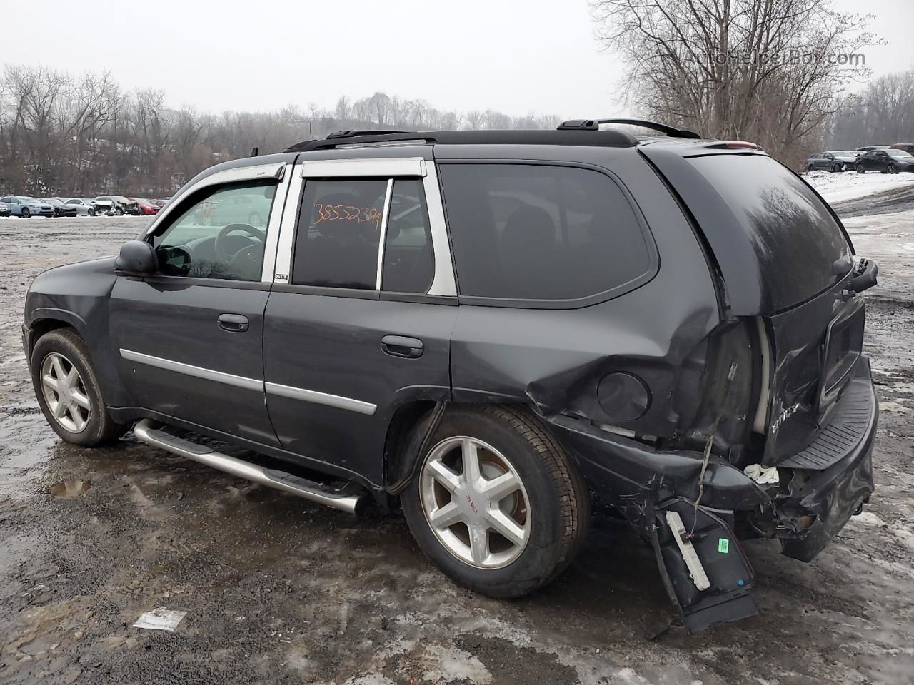
[[[55, 361], [58, 364], [55, 364]], [[59, 382], [61, 373], [69, 377], [75, 368], [78, 377], [72, 382], [64, 395], [52, 391], [46, 385], [43, 376], [47, 373], [56, 377]], [[69, 443], [93, 448], [116, 440], [127, 430], [127, 426], [116, 423], [108, 413], [101, 385], [95, 369], [92, 367], [89, 350], [85, 342], [72, 329], [58, 329], [45, 333], [38, 338], [31, 357], [32, 386], [38, 406], [44, 413], [50, 427]], [[57, 383], [58, 387], [60, 386]], [[68, 399], [72, 398], [71, 400]], [[57, 401], [63, 409], [63, 416], [55, 416], [54, 409], [48, 404], [48, 398]], [[89, 407], [80, 406], [83, 400]], [[66, 408], [69, 405], [69, 409]], [[74, 416], [80, 416], [84, 425], [80, 427]]]

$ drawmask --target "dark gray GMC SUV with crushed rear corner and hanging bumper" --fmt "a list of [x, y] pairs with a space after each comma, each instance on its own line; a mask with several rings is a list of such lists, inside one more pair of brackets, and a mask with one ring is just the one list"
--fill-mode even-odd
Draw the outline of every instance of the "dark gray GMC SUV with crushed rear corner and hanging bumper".
[[[740, 542], [809, 561], [873, 490], [876, 265], [756, 145], [601, 122], [341, 132], [208, 169], [120, 257], [32, 283], [48, 423], [95, 446], [138, 422], [344, 511], [399, 506], [495, 597], [571, 562], [594, 493], [690, 631], [752, 615]], [[237, 197], [261, 225], [201, 212]]]

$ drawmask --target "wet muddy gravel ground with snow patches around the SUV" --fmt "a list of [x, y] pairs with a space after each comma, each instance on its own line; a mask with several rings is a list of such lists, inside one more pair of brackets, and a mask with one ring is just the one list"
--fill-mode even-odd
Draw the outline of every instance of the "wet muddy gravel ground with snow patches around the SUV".
[[[28, 283], [143, 219], [0, 220], [0, 682], [911, 683], [914, 211], [858, 205], [847, 225], [882, 271], [877, 492], [812, 564], [748, 543], [760, 616], [692, 637], [653, 553], [605, 514], [556, 582], [494, 601], [446, 580], [398, 514], [356, 519], [129, 435], [62, 443], [20, 347]], [[160, 606], [187, 612], [175, 632], [133, 627]]]

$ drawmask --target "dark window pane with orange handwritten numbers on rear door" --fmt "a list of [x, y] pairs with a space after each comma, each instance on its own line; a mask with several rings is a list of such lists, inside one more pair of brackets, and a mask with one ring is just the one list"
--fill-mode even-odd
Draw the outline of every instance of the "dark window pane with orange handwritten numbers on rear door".
[[376, 290], [387, 191], [386, 178], [305, 183], [292, 283]]

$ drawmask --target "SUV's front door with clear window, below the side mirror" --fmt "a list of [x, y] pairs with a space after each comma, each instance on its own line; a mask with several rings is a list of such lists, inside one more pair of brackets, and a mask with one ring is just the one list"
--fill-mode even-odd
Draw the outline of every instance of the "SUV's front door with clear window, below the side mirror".
[[[276, 174], [283, 166], [273, 165]], [[253, 167], [256, 169], [256, 167]], [[275, 177], [208, 184], [154, 224], [160, 273], [117, 279], [112, 353], [135, 406], [270, 446], [263, 394], [263, 313], [286, 184]], [[253, 172], [252, 172], [253, 173]], [[269, 223], [201, 219], [202, 206], [250, 200]], [[275, 219], [275, 220], [273, 220]]]

